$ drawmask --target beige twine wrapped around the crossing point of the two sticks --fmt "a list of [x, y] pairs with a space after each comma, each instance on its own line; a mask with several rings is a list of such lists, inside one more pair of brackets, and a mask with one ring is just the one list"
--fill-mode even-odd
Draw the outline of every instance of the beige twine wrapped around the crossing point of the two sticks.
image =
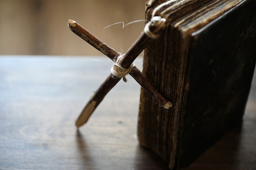
[[121, 66], [121, 58], [123, 57], [124, 55], [120, 55], [118, 58], [117, 58], [117, 61], [115, 62], [115, 64], [112, 66], [111, 68], [111, 73], [113, 75], [115, 75], [115, 77], [118, 77], [118, 78], [123, 78], [124, 79], [124, 82], [127, 82], [127, 79], [126, 79], [126, 75], [128, 75], [130, 73], [130, 71], [132, 71], [132, 68], [135, 66], [135, 64], [131, 64], [129, 68], [124, 68]]

